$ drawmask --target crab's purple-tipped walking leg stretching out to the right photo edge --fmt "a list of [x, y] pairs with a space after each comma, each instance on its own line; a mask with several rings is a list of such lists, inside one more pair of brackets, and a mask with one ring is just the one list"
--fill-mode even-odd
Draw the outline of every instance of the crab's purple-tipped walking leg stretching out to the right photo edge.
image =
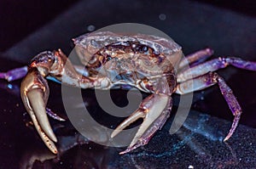
[[233, 65], [244, 70], [256, 71], [256, 62], [243, 60], [240, 58], [221, 58], [209, 60], [201, 65], [196, 65], [188, 70], [183, 70], [178, 73], [177, 82], [185, 82], [192, 77], [197, 77], [207, 74], [209, 71], [215, 71]]

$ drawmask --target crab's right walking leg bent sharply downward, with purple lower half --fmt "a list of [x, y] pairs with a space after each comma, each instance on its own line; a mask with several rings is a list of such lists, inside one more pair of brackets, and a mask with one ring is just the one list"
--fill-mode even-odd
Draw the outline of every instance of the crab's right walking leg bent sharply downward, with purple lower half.
[[230, 110], [232, 114], [235, 116], [232, 126], [230, 128], [230, 132], [228, 135], [224, 138], [224, 141], [228, 140], [232, 134], [235, 132], [236, 127], [238, 125], [238, 121], [240, 120], [241, 116], [241, 106], [236, 100], [236, 97], [230, 87], [224, 82], [224, 79], [219, 76], [215, 72], [207, 73], [206, 75], [199, 76], [195, 79], [191, 79], [186, 82], [182, 82], [177, 85], [176, 93], [178, 94], [185, 94], [185, 93], [191, 93], [194, 91], [198, 91], [201, 89], [204, 89], [206, 87], [210, 87], [214, 84], [218, 84], [218, 87], [224, 96], [224, 99], [226, 100], [227, 104], [230, 107]]

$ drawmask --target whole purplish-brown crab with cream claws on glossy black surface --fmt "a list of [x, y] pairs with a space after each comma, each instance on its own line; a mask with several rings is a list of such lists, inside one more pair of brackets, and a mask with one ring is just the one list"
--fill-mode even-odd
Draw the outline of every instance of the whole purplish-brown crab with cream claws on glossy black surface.
[[[61, 49], [45, 51], [35, 56], [28, 67], [0, 74], [6, 79], [25, 76], [20, 94], [28, 114], [44, 144], [57, 154], [57, 138], [47, 114], [57, 116], [46, 108], [49, 87], [46, 77], [64, 84], [107, 90], [124, 85], [149, 93], [138, 109], [116, 127], [111, 138], [143, 118], [131, 144], [120, 154], [148, 144], [154, 133], [163, 127], [172, 110], [172, 93], [186, 94], [218, 85], [234, 115], [227, 141], [235, 132], [241, 116], [241, 106], [224, 78], [215, 71], [228, 65], [256, 70], [256, 62], [234, 57], [212, 56], [211, 48], [183, 57], [182, 48], [172, 39], [144, 34], [121, 34], [110, 31], [92, 32], [73, 39], [84, 68], [75, 66]], [[189, 66], [186, 66], [189, 65]], [[81, 73], [83, 70], [87, 73]], [[25, 73], [27, 71], [27, 73]], [[14, 73], [15, 72], [15, 73]]]

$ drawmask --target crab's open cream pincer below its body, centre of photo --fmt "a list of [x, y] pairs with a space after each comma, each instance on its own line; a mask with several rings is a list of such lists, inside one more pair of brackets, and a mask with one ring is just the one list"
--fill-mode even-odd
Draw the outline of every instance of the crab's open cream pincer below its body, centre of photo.
[[154, 132], [160, 130], [165, 124], [166, 119], [170, 115], [172, 108], [172, 100], [169, 96], [164, 94], [152, 94], [144, 99], [139, 108], [133, 112], [128, 118], [125, 119], [119, 127], [117, 127], [111, 134], [111, 138], [115, 137], [125, 127], [128, 127], [132, 122], [143, 118], [143, 123], [139, 127], [135, 137], [132, 139], [131, 144], [125, 151], [119, 154], [125, 154], [133, 149], [148, 144], [148, 141], [154, 135]]

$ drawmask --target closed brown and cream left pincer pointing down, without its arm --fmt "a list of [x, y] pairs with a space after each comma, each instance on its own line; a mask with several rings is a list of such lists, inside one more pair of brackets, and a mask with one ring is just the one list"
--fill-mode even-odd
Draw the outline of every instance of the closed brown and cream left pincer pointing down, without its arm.
[[44, 140], [44, 144], [56, 154], [57, 149], [54, 142], [57, 142], [57, 138], [49, 125], [45, 110], [45, 104], [49, 97], [49, 87], [44, 76], [36, 67], [31, 67], [28, 70], [26, 77], [21, 82], [20, 94], [34, 126]]

